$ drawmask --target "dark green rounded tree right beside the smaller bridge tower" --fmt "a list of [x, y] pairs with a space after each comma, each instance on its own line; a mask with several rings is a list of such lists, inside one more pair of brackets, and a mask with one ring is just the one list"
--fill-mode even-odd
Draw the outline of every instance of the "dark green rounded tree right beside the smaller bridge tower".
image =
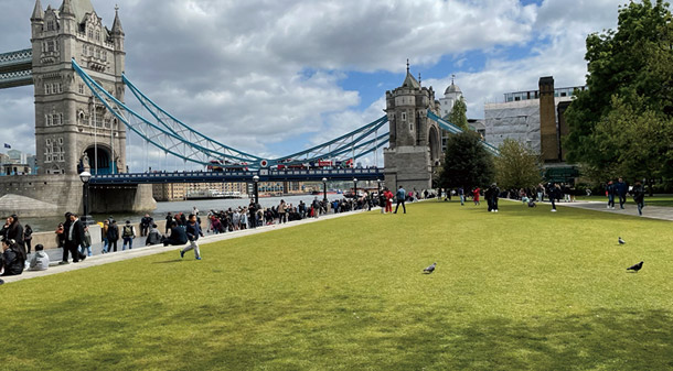
[[446, 159], [439, 176], [442, 188], [463, 187], [466, 192], [493, 179], [493, 160], [478, 133], [464, 131], [447, 140]]

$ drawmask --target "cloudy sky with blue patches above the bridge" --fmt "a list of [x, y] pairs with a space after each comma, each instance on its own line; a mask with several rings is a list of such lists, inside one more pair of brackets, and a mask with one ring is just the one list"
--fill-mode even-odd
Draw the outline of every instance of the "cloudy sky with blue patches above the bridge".
[[[92, 0], [108, 29], [119, 6], [126, 75], [140, 90], [209, 137], [269, 159], [382, 117], [407, 58], [436, 99], [455, 75], [474, 119], [504, 92], [536, 89], [542, 76], [554, 76], [556, 87], [584, 85], [587, 35], [616, 29], [626, 2]], [[30, 47], [33, 7], [0, 0], [0, 53]], [[0, 141], [29, 153], [33, 101], [32, 86], [0, 90]], [[131, 138], [131, 171], [152, 159], [163, 156]]]

